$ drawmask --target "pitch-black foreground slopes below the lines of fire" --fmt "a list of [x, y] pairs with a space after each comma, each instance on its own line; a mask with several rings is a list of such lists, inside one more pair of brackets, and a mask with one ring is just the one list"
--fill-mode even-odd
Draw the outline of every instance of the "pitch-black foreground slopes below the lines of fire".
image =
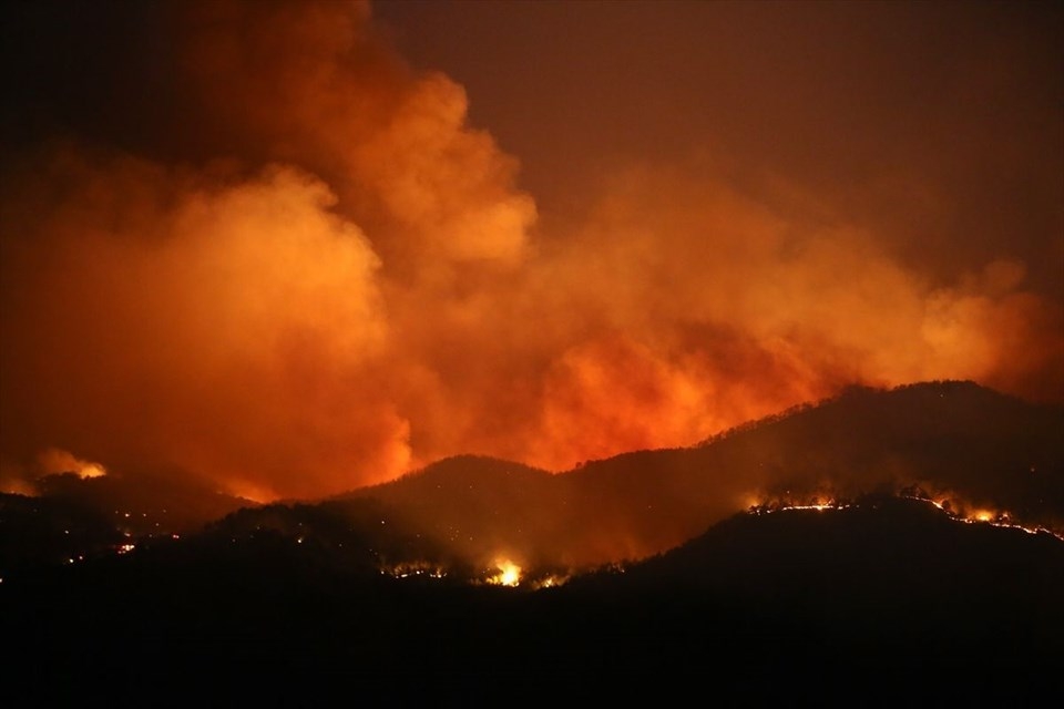
[[1064, 657], [1064, 542], [914, 500], [740, 514], [539, 590], [228, 533], [6, 579], [4, 706], [1029, 706]]

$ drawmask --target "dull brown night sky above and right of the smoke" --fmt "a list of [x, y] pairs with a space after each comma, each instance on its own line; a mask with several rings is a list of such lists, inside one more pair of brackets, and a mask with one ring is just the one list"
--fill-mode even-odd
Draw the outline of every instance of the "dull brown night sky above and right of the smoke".
[[[1064, 298], [1055, 3], [381, 2], [541, 207], [632, 161], [796, 182], [918, 267], [1001, 257]], [[579, 198], [574, 198], [577, 195]]]

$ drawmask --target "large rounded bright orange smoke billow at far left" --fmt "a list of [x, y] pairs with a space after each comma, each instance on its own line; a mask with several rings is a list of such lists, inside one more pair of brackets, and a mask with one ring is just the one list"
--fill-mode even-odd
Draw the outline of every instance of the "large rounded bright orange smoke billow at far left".
[[6, 443], [270, 496], [405, 470], [407, 423], [366, 383], [388, 347], [379, 263], [325, 185], [57, 162], [74, 188], [3, 243]]

